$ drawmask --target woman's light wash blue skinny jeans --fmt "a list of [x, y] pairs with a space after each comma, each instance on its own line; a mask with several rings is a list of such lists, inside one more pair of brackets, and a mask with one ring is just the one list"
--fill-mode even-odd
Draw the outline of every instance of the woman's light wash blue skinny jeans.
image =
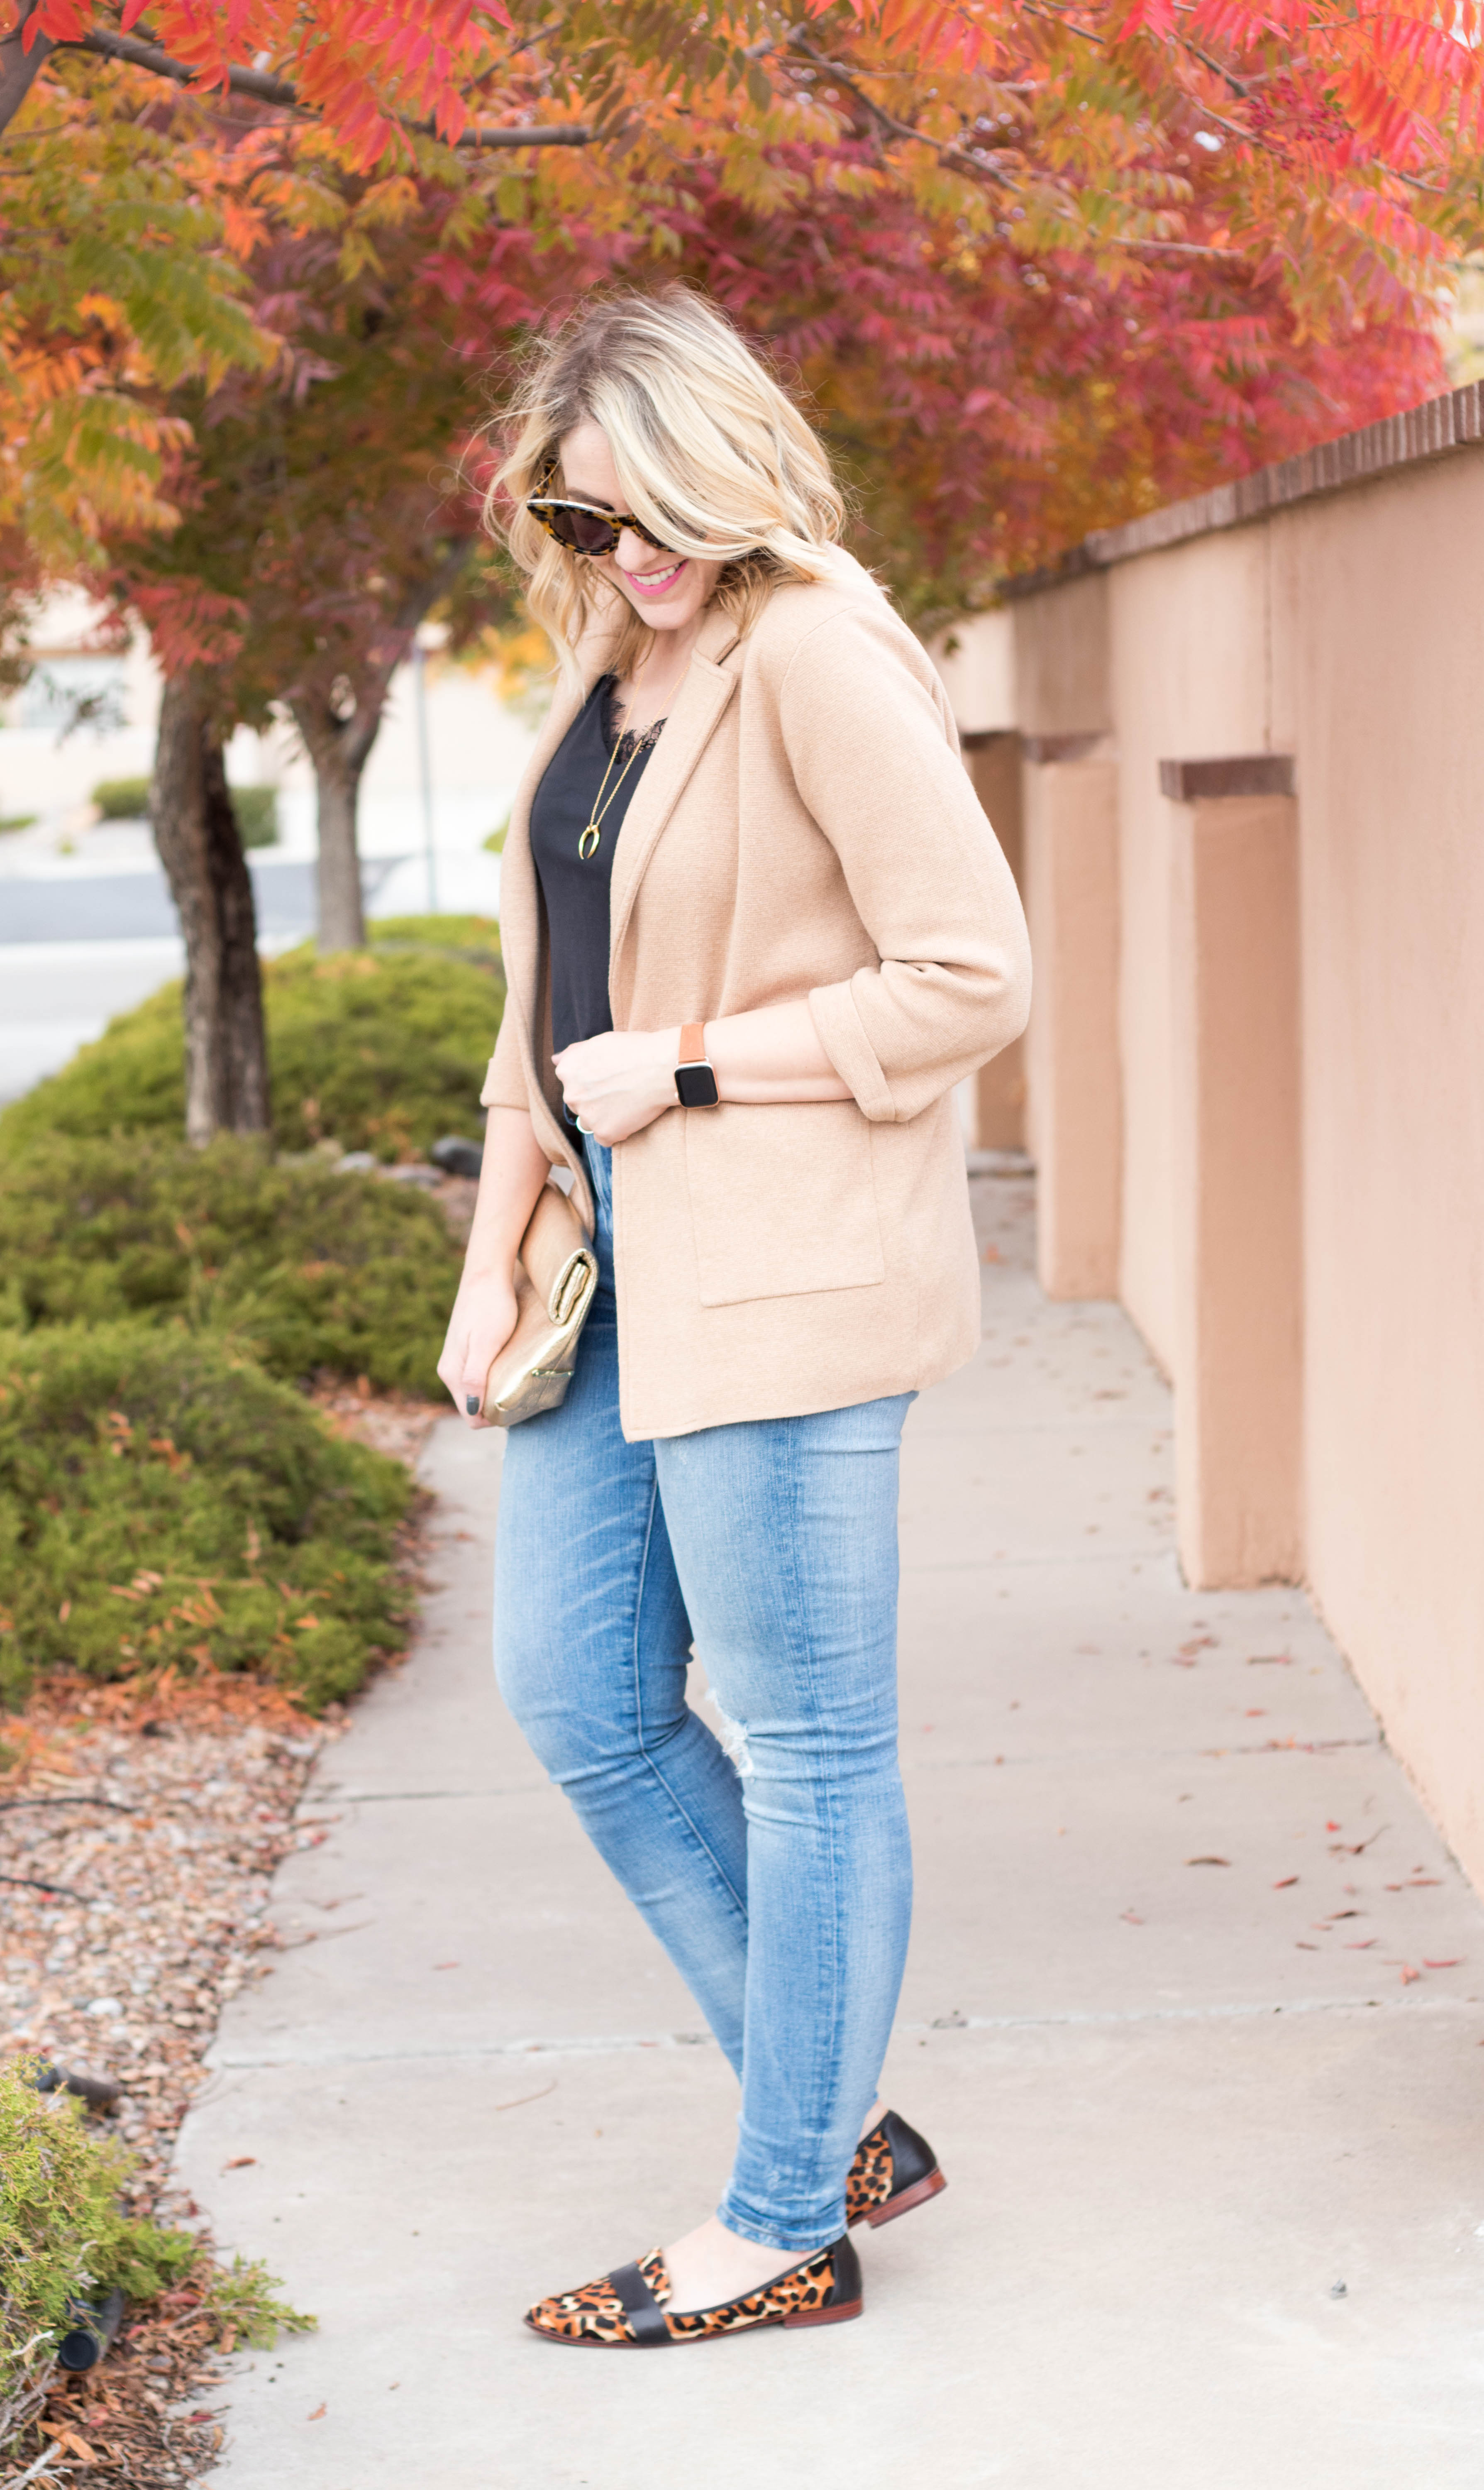
[[[896, 1765], [896, 1457], [911, 1392], [625, 1444], [613, 1158], [560, 1409], [505, 1439], [495, 1666], [535, 1755], [742, 2077], [720, 2216], [807, 2256], [891, 2032], [911, 1850]], [[735, 1726], [687, 1708], [690, 1646]]]

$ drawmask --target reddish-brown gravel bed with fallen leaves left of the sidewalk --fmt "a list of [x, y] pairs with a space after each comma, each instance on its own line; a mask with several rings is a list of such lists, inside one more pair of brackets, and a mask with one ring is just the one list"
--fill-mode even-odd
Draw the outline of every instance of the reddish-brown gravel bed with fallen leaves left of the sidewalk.
[[[344, 1434], [406, 1462], [438, 1414], [346, 1387], [314, 1397]], [[416, 1559], [413, 1529], [411, 1576]], [[0, 1721], [0, 2057], [40, 2052], [120, 2087], [112, 2124], [139, 2156], [134, 2209], [162, 2221], [199, 2219], [169, 2189], [169, 2154], [222, 2002], [284, 1942], [314, 1942], [279, 1935], [269, 1885], [289, 1850], [326, 1840], [331, 1818], [301, 1815], [299, 1800], [344, 1726], [341, 1706], [311, 1721], [256, 1678], [172, 1673], [52, 1676]], [[204, 2403], [214, 2331], [192, 2283], [129, 2316], [107, 2361], [60, 2383], [22, 2450], [0, 2458], [0, 2483], [174, 2490], [199, 2478], [222, 2448]]]

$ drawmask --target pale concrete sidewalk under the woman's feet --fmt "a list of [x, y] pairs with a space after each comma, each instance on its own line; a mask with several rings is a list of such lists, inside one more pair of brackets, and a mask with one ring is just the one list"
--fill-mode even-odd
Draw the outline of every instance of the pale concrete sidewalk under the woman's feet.
[[500, 1713], [498, 1437], [451, 1419], [441, 1591], [279, 1877], [319, 1942], [227, 2009], [182, 2136], [321, 2318], [237, 2363], [232, 2490], [1484, 2478], [1479, 1902], [1305, 1601], [1183, 1589], [1163, 1384], [1118, 1310], [1041, 1300], [1031, 1188], [974, 1193], [984, 1352], [906, 1437], [886, 2069], [949, 2194], [859, 2234], [859, 2326], [518, 2326], [715, 2201], [735, 2087]]

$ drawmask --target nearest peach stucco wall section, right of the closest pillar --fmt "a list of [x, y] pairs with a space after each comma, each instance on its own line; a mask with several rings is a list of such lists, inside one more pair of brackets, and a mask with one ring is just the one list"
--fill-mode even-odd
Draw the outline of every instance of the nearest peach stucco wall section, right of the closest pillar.
[[1302, 824], [1307, 1571], [1484, 1882], [1484, 456], [1272, 535]]

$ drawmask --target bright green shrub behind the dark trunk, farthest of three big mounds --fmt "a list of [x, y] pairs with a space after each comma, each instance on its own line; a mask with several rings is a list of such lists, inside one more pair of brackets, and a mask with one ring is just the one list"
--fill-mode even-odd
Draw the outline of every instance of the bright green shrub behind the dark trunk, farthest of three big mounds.
[[[264, 961], [276, 1145], [334, 1138], [396, 1160], [426, 1155], [438, 1133], [478, 1130], [503, 1001], [495, 934], [481, 919], [393, 916], [366, 951], [319, 959], [306, 944]], [[0, 1155], [47, 1133], [174, 1140], [182, 1125], [179, 986], [162, 986], [5, 1108]]]

